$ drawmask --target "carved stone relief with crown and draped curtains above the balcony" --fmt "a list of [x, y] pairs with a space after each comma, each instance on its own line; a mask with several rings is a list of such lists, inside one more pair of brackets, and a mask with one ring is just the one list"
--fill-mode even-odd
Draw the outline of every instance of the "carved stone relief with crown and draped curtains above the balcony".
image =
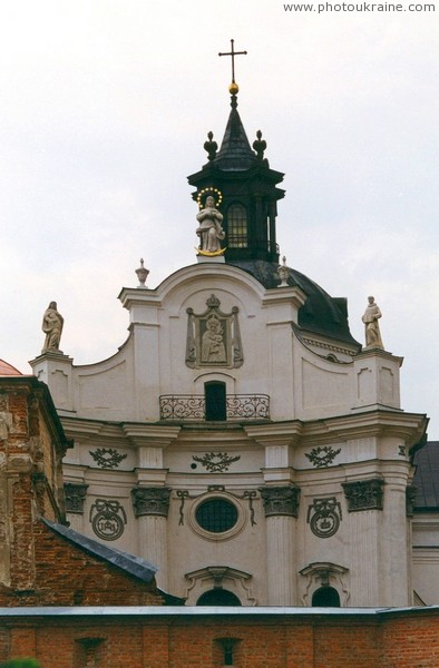
[[186, 365], [191, 369], [242, 366], [244, 357], [237, 306], [231, 313], [223, 313], [215, 295], [211, 295], [206, 306], [207, 310], [199, 314], [187, 308]]

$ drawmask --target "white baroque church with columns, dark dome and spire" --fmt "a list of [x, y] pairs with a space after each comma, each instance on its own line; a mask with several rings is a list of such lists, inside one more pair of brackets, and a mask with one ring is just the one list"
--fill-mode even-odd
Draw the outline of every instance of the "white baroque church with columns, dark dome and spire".
[[373, 298], [362, 346], [345, 299], [280, 262], [283, 175], [231, 94], [188, 177], [196, 262], [154, 289], [142, 262], [110, 358], [78, 366], [55, 344], [31, 362], [75, 442], [70, 527], [156, 564], [189, 606], [411, 606], [427, 419], [401, 410]]

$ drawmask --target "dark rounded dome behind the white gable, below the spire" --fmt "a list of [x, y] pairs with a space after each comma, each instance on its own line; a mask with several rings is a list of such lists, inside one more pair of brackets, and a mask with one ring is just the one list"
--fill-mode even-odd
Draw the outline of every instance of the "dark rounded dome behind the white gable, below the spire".
[[[266, 288], [279, 287], [277, 264], [265, 261], [234, 261], [233, 266], [252, 274]], [[289, 285], [297, 286], [308, 296], [305, 304], [299, 310], [301, 330], [329, 336], [361, 348], [349, 331], [348, 301], [344, 297], [331, 297], [320, 285], [304, 274], [290, 269]]]

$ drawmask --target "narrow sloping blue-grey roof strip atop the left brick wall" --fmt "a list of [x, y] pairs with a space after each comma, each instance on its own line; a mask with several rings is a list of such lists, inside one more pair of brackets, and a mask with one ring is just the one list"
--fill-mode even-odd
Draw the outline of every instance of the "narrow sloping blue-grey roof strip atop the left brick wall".
[[148, 561], [145, 561], [145, 559], [140, 559], [140, 557], [134, 557], [127, 552], [121, 552], [121, 550], [117, 550], [116, 548], [108, 548], [92, 538], [82, 536], [81, 533], [74, 531], [74, 529], [68, 529], [62, 524], [50, 522], [45, 518], [42, 518], [42, 521], [47, 527], [49, 527], [49, 529], [55, 531], [55, 533], [62, 536], [62, 538], [66, 538], [69, 542], [81, 548], [82, 550], [86, 550], [90, 554], [100, 557], [100, 559], [104, 559], [113, 566], [123, 569], [130, 576], [135, 576], [144, 582], [152, 582], [152, 580], [154, 580], [154, 576], [156, 574], [158, 568]]

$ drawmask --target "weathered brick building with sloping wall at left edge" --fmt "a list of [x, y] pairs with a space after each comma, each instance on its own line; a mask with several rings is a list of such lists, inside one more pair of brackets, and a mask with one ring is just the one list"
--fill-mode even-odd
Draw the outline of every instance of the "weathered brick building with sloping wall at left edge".
[[0, 379], [0, 606], [162, 605], [147, 583], [53, 533], [65, 521], [66, 439], [32, 376]]

